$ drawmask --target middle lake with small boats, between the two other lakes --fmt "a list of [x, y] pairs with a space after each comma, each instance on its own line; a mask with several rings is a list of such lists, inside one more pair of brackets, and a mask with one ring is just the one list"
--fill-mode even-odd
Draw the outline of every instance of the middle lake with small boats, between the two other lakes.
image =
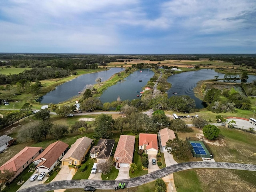
[[[140, 93], [137, 93], [136, 91], [142, 91], [142, 87], [147, 84], [153, 75], [154, 72], [152, 72], [150, 69], [137, 70], [128, 77], [124, 78], [123, 81], [105, 90], [100, 96], [100, 100], [102, 103], [111, 103], [112, 101], [116, 101], [118, 96], [122, 101], [138, 99], [140, 97], [137, 97], [137, 94]], [[139, 80], [142, 80], [142, 82], [139, 82]]]

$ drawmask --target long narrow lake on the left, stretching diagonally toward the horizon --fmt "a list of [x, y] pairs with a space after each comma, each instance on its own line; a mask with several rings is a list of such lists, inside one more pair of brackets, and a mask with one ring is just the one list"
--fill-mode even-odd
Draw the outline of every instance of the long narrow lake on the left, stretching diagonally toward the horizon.
[[108, 80], [112, 75], [124, 70], [124, 68], [111, 68], [110, 70], [84, 74], [71, 81], [61, 84], [56, 87], [56, 90], [47, 93], [41, 97], [41, 103], [60, 103], [66, 101], [73, 96], [78, 95], [78, 92], [84, 90], [88, 84], [96, 84], [96, 78], [102, 78], [102, 81]]

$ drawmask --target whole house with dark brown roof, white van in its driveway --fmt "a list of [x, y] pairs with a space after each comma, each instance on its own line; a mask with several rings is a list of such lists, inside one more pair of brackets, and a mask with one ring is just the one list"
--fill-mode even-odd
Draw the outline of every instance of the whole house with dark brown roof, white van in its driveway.
[[114, 139], [100, 139], [98, 144], [90, 150], [91, 158], [96, 158], [97, 163], [106, 162], [110, 158], [114, 144]]

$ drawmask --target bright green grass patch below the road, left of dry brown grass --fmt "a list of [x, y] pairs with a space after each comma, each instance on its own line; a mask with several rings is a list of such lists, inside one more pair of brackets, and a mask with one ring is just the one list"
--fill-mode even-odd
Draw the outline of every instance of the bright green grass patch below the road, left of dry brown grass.
[[174, 183], [177, 192], [203, 192], [195, 170], [174, 173]]

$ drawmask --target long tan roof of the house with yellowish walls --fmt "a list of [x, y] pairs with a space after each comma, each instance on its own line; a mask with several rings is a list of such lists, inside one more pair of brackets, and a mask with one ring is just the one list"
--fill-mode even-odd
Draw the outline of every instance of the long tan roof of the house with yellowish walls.
[[68, 152], [62, 157], [62, 160], [68, 159], [70, 157], [77, 160], [82, 160], [82, 157], [84, 156], [86, 150], [91, 146], [91, 144], [92, 139], [88, 137], [82, 137], [76, 140], [76, 142], [71, 145]]

